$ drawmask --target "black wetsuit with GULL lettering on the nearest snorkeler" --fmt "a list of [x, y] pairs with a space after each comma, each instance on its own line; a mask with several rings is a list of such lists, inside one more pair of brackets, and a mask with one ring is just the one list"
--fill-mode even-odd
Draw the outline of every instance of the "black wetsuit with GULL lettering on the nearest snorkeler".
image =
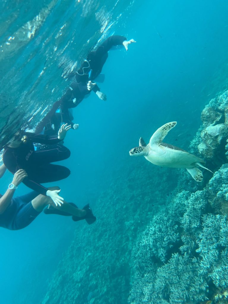
[[[23, 183], [36, 192], [46, 195], [47, 188], [40, 183], [59, 181], [67, 178], [71, 171], [60, 165], [50, 164], [68, 158], [70, 150], [61, 145], [57, 136], [47, 136], [25, 132], [27, 143], [21, 143], [18, 148], [5, 147], [3, 162], [6, 168], [15, 173], [19, 169], [24, 169], [28, 177]], [[33, 143], [43, 143], [53, 145], [46, 150], [35, 151]]]

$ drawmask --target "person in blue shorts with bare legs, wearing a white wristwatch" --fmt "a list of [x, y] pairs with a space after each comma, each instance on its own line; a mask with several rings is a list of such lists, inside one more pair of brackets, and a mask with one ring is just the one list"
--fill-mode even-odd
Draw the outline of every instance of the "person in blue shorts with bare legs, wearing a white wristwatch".
[[[5, 171], [6, 167], [3, 164], [0, 166], [0, 178]], [[60, 202], [54, 204], [50, 197], [39, 195], [35, 191], [13, 198], [15, 190], [27, 176], [26, 171], [22, 169], [16, 171], [12, 183], [9, 184], [5, 194], [0, 194], [0, 227], [9, 230], [25, 228], [33, 222], [47, 205], [51, 205], [53, 210], [56, 210], [56, 212], [49, 213], [69, 215], [72, 216], [74, 221], [85, 219], [88, 224], [95, 222], [96, 217], [88, 205], [83, 209], [78, 209], [76, 205], [65, 202], [63, 198], [60, 198]], [[48, 191], [59, 192], [60, 190], [58, 187], [52, 187], [48, 188]], [[44, 209], [44, 212], [45, 210], [49, 209]]]

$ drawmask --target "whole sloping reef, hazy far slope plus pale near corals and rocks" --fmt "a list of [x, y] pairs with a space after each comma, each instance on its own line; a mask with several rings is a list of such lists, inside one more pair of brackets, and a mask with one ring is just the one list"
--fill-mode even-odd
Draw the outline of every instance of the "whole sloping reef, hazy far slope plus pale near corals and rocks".
[[227, 105], [227, 92], [212, 99], [189, 148], [214, 175], [123, 164], [96, 223], [77, 223], [42, 304], [227, 303]]

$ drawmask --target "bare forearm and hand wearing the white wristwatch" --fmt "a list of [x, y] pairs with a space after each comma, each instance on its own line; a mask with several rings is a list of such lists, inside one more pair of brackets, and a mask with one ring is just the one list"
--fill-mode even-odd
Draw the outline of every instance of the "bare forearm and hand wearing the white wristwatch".
[[[1, 166], [2, 167], [2, 166]], [[27, 173], [20, 169], [18, 170], [13, 177], [12, 184], [18, 186], [24, 178], [27, 177]], [[4, 213], [5, 210], [11, 204], [12, 197], [14, 195], [15, 189], [7, 189], [5, 194], [0, 198], [0, 214]]]

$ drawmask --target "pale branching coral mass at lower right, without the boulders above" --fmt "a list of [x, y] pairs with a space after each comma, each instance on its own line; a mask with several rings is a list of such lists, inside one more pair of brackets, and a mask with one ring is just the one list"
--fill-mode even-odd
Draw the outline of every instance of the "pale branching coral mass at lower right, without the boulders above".
[[220, 195], [216, 181], [225, 172], [205, 190], [179, 193], [154, 216], [133, 250], [129, 303], [197, 304], [228, 289], [228, 221], [208, 213], [208, 194]]

